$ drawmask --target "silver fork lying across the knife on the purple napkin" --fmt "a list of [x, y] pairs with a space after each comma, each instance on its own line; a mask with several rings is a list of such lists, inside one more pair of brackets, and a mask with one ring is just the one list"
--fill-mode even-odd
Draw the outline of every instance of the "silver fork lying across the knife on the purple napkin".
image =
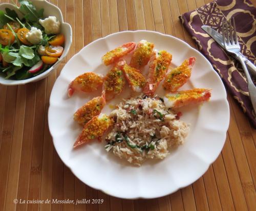
[[251, 103], [252, 103], [254, 112], [256, 112], [256, 87], [254, 86], [254, 84], [251, 80], [250, 74], [245, 65], [243, 57], [240, 54], [241, 49], [240, 49], [240, 45], [238, 43], [237, 30], [236, 30], [236, 25], [234, 24], [234, 18], [232, 18], [232, 24], [231, 24], [230, 19], [228, 20], [228, 23], [226, 20], [223, 20], [222, 36], [223, 36], [223, 43], [224, 43], [226, 51], [231, 54], [236, 55], [242, 64], [242, 67], [244, 69], [244, 73], [246, 76], [246, 80], [248, 83], [248, 90], [249, 90], [249, 96], [251, 99]]

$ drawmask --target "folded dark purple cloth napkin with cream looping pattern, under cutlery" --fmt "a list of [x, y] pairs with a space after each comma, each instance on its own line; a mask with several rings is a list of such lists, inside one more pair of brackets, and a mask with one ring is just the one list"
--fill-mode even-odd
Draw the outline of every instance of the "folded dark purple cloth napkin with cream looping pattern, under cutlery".
[[[221, 33], [223, 19], [234, 18], [241, 53], [256, 64], [256, 8], [248, 0], [217, 0], [195, 11], [180, 16], [180, 20], [198, 49], [219, 73], [230, 94], [238, 101], [248, 119], [256, 128], [255, 111], [252, 108], [246, 78], [241, 64], [228, 56], [201, 26], [207, 25]], [[255, 82], [255, 79], [253, 79]]]

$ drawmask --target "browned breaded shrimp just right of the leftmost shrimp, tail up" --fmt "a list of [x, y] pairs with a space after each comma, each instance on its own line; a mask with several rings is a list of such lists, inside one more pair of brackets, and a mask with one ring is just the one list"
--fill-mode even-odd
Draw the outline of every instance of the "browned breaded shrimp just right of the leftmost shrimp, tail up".
[[115, 66], [106, 74], [103, 82], [103, 90], [105, 91], [105, 99], [109, 101], [119, 95], [125, 85], [124, 74], [121, 67], [124, 65], [124, 60], [116, 63]]

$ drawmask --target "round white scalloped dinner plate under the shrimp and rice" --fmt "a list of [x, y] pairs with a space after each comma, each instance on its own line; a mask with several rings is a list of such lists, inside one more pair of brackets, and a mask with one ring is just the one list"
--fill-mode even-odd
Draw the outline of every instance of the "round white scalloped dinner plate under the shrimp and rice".
[[[73, 144], [82, 128], [74, 122], [73, 113], [93, 97], [99, 96], [100, 90], [90, 94], [75, 92], [69, 98], [69, 83], [84, 72], [106, 75], [111, 65], [105, 66], [101, 57], [125, 42], [137, 43], [142, 39], [155, 43], [155, 49], [166, 50], [173, 55], [170, 68], [180, 65], [188, 57], [196, 57], [191, 77], [182, 89], [212, 89], [209, 102], [182, 110], [181, 120], [190, 124], [184, 144], [172, 150], [165, 159], [146, 161], [141, 167], [132, 166], [112, 152], [107, 153], [104, 140], [74, 150]], [[129, 56], [126, 59], [129, 60]], [[144, 71], [146, 75], [146, 68]], [[163, 94], [161, 85], [157, 93], [160, 96]], [[110, 104], [115, 105], [121, 98], [129, 96], [127, 87], [102, 112], [109, 114], [112, 111]], [[220, 154], [229, 124], [226, 91], [209, 61], [184, 41], [152, 31], [115, 33], [85, 46], [63, 67], [52, 89], [48, 114], [55, 149], [74, 175], [94, 189], [126, 199], [165, 196], [196, 181]]]

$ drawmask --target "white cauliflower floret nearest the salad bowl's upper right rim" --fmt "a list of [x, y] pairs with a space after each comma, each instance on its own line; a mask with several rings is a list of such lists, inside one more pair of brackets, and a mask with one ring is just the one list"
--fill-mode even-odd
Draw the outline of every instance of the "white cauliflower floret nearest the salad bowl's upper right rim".
[[40, 25], [45, 28], [46, 34], [58, 34], [60, 32], [60, 22], [55, 16], [49, 16], [44, 20], [39, 20]]

